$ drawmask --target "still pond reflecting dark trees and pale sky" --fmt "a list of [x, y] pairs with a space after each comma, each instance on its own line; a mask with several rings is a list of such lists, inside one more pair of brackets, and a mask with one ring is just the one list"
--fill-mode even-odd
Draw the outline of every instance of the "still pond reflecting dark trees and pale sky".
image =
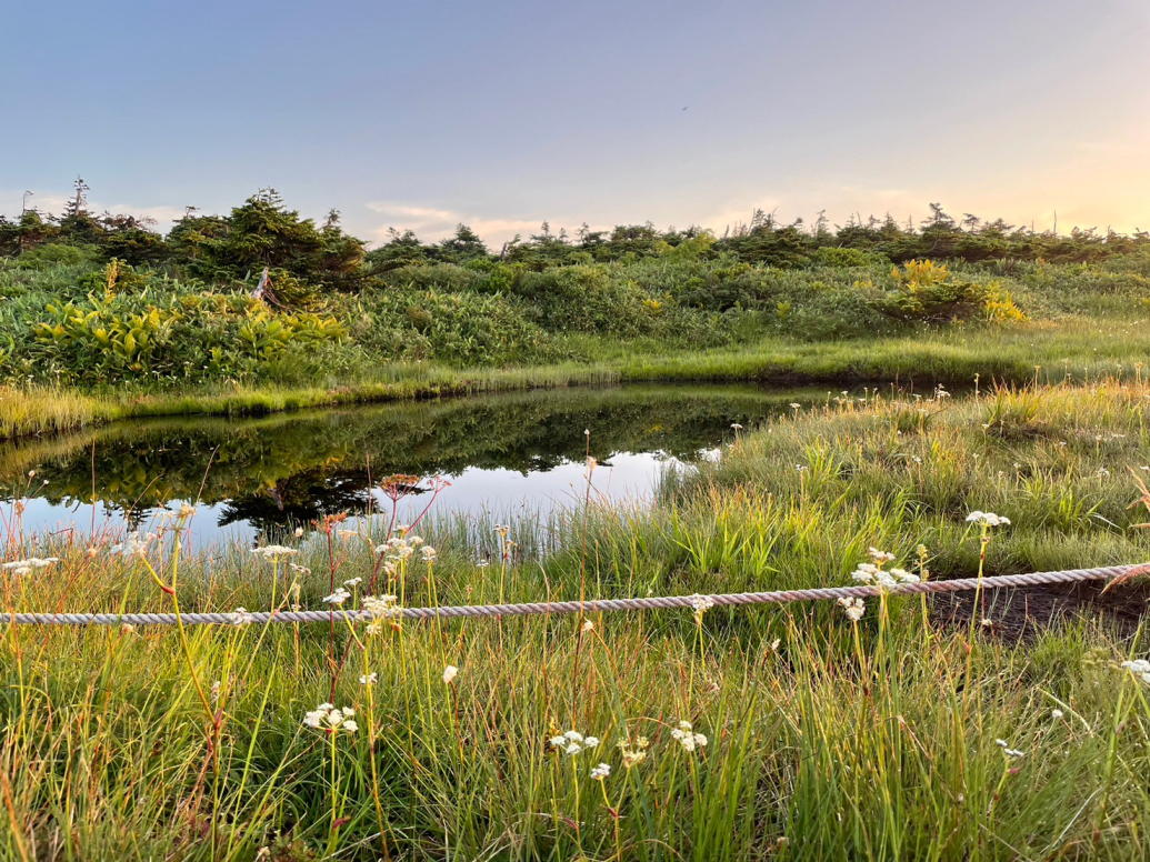
[[[181, 416], [0, 442], [0, 534], [120, 534], [193, 503], [199, 546], [274, 538], [328, 514], [391, 509], [378, 483], [420, 477], [400, 517], [451, 483], [437, 516], [547, 517], [589, 493], [649, 498], [667, 469], [822, 391], [636, 385], [390, 402], [259, 418]], [[590, 434], [585, 434], [589, 431]], [[30, 476], [30, 474], [34, 474]]]

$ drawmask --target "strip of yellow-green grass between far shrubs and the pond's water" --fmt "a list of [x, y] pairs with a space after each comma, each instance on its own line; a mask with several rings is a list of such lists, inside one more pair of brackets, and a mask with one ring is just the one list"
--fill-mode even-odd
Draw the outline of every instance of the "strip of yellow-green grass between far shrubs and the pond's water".
[[68, 388], [0, 390], [0, 439], [76, 430], [144, 416], [262, 415], [485, 392], [618, 383], [757, 383], [762, 385], [900, 384], [968, 386], [976, 379], [1022, 384], [1140, 378], [1150, 357], [1141, 321], [1074, 318], [1059, 324], [954, 329], [934, 334], [835, 344], [767, 339], [696, 352], [630, 351], [604, 344], [601, 361], [522, 368], [455, 369], [396, 363], [373, 379], [315, 386], [247, 386], [192, 392], [79, 393]]

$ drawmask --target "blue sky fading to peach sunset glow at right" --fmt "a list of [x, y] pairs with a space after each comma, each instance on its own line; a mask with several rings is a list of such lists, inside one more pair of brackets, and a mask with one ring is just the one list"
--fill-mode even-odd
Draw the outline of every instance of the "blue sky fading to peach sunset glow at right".
[[[1150, 229], [1150, 0], [57, 0], [0, 23], [0, 213], [273, 186], [373, 243], [756, 208]], [[1057, 220], [1057, 221], [1056, 221]]]

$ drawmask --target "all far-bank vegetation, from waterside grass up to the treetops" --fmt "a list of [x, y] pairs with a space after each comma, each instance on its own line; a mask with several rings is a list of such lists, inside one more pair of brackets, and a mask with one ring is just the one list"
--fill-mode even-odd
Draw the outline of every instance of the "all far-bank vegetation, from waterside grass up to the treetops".
[[722, 236], [544, 225], [498, 252], [460, 225], [366, 251], [271, 191], [167, 236], [82, 191], [0, 222], [0, 436], [581, 383], [1086, 380], [1150, 346], [1143, 234], [935, 207]]

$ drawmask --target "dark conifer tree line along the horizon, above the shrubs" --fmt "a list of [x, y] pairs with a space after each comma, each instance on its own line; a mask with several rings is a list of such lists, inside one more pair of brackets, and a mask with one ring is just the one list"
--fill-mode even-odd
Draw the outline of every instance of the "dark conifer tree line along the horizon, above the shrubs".
[[[87, 186], [76, 180], [75, 195], [59, 215], [25, 208], [18, 218], [0, 216], [0, 256], [17, 257], [45, 246], [82, 247], [105, 260], [132, 265], [174, 265], [212, 282], [246, 279], [262, 268], [288, 272], [316, 287], [354, 292], [366, 279], [400, 267], [434, 263], [459, 265], [507, 262], [528, 270], [626, 261], [653, 256], [728, 257], [772, 267], [802, 267], [827, 260], [820, 249], [842, 248], [875, 254], [900, 263], [919, 259], [1025, 260], [1091, 262], [1127, 254], [1150, 244], [1150, 233], [1075, 228], [1070, 233], [1035, 231], [972, 214], [956, 218], [941, 205], [918, 224], [891, 216], [851, 218], [833, 225], [820, 214], [780, 222], [757, 210], [745, 224], [721, 234], [699, 226], [657, 229], [652, 223], [618, 225], [612, 230], [581, 226], [574, 236], [553, 231], [544, 222], [537, 233], [516, 236], [500, 248], [489, 248], [466, 224], [435, 243], [414, 232], [392, 229], [385, 243], [368, 251], [347, 233], [339, 213], [316, 223], [290, 209], [275, 190], [261, 190], [228, 215], [202, 215], [189, 208], [167, 234], [147, 220], [93, 213]], [[43, 252], [41, 252], [43, 253]], [[844, 255], [849, 261], [850, 255]]]

